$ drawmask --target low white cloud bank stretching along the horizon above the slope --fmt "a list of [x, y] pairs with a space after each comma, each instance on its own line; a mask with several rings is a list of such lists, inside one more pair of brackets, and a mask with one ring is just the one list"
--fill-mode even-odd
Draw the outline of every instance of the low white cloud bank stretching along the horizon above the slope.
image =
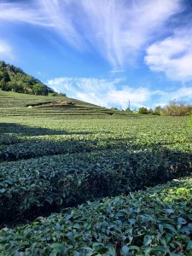
[[94, 78], [55, 78], [47, 83], [56, 91], [67, 93], [67, 96], [77, 98], [84, 102], [94, 103], [107, 108], [118, 106], [127, 108], [131, 101], [131, 108], [142, 106], [152, 107], [165, 105], [173, 99], [192, 99], [192, 86], [181, 87], [177, 90], [149, 90], [148, 88], [133, 88], [127, 84], [121, 85], [120, 79], [94, 79]]

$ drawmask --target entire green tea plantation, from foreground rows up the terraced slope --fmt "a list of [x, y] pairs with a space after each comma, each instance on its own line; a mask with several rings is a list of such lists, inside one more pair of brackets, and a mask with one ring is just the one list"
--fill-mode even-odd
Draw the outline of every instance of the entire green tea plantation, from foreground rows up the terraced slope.
[[192, 255], [191, 143], [189, 117], [0, 90], [0, 255]]

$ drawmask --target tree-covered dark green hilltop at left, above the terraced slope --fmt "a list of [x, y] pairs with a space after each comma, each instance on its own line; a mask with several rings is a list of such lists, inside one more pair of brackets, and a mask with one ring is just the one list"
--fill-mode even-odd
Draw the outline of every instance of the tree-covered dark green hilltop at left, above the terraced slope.
[[40, 80], [23, 72], [19, 67], [0, 61], [0, 90], [15, 91], [41, 96], [65, 96], [58, 94]]

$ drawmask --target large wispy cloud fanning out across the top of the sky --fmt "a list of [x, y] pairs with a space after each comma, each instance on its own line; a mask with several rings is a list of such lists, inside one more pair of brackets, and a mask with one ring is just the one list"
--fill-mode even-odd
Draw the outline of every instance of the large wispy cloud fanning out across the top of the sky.
[[34, 0], [0, 3], [0, 19], [49, 26], [73, 47], [121, 67], [181, 10], [182, 0]]

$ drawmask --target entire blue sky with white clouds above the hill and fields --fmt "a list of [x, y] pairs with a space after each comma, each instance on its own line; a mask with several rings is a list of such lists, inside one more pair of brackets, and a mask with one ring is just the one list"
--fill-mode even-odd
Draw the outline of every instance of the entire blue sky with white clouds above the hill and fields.
[[108, 108], [192, 103], [192, 5], [0, 0], [0, 60]]

